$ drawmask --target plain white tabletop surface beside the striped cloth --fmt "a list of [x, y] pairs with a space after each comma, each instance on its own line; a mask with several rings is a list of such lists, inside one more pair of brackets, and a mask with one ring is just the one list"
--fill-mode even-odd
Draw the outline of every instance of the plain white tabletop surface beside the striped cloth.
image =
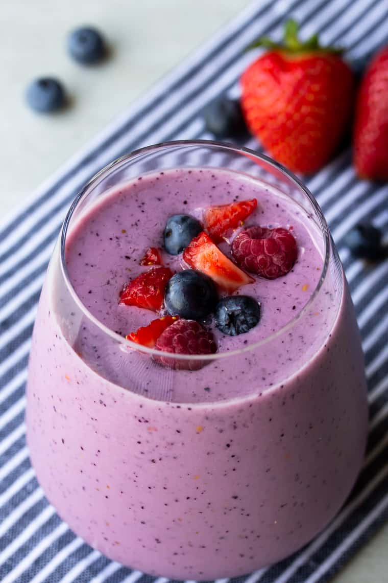
[[[247, 0], [3, 0], [1, 215], [247, 4]], [[84, 23], [101, 28], [112, 47], [111, 59], [90, 69], [74, 64], [64, 48], [66, 33]], [[25, 106], [23, 92], [31, 78], [48, 74], [63, 80], [72, 106], [47, 117]], [[388, 526], [334, 581], [387, 582], [387, 548]]]

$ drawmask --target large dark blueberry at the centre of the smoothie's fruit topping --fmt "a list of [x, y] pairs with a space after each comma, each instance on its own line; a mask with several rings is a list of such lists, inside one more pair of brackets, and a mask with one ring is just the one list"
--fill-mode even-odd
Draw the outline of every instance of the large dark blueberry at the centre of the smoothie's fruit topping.
[[203, 320], [217, 303], [215, 283], [204, 273], [184, 269], [172, 276], [165, 291], [165, 304], [172, 316]]

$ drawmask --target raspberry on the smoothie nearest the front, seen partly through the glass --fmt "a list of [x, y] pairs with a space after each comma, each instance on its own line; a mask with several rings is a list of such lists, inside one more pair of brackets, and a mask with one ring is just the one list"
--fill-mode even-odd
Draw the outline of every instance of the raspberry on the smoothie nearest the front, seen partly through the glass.
[[[214, 354], [217, 350], [211, 332], [194, 320], [177, 320], [159, 336], [156, 348], [172, 354]], [[156, 356], [155, 360], [170, 368], [198, 370], [204, 366], [201, 360], [177, 360]]]

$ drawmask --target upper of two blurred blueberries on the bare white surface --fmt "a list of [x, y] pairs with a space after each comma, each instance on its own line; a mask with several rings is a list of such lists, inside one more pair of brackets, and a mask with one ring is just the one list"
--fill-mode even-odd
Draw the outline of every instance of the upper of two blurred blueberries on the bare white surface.
[[91, 65], [105, 55], [104, 38], [98, 30], [83, 26], [69, 34], [67, 50], [79, 63]]

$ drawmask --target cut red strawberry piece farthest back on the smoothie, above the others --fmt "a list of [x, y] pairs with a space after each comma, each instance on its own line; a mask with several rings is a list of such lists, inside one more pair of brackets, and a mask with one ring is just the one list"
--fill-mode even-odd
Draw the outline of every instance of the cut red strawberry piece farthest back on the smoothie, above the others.
[[232, 202], [230, 205], [209, 206], [204, 211], [205, 228], [215, 243], [232, 229], [244, 224], [244, 220], [257, 207], [257, 200]]

